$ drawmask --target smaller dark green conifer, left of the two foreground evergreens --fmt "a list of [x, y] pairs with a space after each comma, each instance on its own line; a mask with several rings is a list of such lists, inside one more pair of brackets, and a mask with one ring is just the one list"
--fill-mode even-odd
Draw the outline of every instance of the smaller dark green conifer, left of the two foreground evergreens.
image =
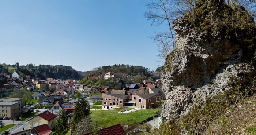
[[57, 135], [65, 135], [68, 127], [68, 118], [67, 118], [67, 111], [65, 109], [60, 110], [59, 119], [56, 122], [56, 134]]

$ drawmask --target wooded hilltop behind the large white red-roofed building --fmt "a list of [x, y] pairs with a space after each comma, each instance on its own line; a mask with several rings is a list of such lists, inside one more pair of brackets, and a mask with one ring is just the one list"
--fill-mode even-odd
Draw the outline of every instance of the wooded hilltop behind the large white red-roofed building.
[[150, 74], [148, 73], [150, 69], [145, 68], [143, 66], [130, 66], [128, 64], [122, 64], [122, 65], [109, 65], [109, 66], [101, 66], [98, 68], [94, 68], [90, 73], [94, 76], [104, 76], [107, 72], [112, 72], [115, 74], [129, 74], [131, 76], [145, 76], [149, 77]]

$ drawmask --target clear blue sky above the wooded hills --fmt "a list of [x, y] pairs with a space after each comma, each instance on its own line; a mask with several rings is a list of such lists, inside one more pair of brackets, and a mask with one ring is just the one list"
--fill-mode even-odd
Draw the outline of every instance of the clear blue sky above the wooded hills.
[[1, 0], [0, 63], [72, 66], [129, 64], [155, 70], [149, 38], [166, 24], [144, 18], [149, 0]]

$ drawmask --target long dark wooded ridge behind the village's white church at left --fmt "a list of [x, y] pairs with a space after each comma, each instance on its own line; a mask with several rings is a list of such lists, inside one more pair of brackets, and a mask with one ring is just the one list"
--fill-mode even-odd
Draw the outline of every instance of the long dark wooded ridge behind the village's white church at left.
[[[38, 77], [45, 79], [46, 77], [52, 77], [55, 79], [80, 79], [81, 75], [73, 69], [71, 66], [63, 65], [39, 65], [33, 64], [19, 66], [19, 63], [14, 65], [7, 65], [5, 63], [0, 64], [0, 69], [7, 69], [9, 73], [13, 73], [16, 69], [22, 77]], [[1, 71], [0, 71], [1, 72]]]

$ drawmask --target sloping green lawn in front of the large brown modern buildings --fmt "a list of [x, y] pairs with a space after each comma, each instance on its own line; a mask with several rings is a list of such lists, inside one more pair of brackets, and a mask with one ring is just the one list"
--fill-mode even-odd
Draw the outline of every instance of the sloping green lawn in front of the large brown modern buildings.
[[159, 111], [160, 108], [137, 110], [135, 112], [123, 114], [118, 113], [121, 110], [124, 109], [91, 111], [91, 117], [94, 121], [98, 121], [99, 126], [105, 128], [119, 123], [122, 125], [135, 122], [139, 123], [149, 117], [155, 116], [154, 113]]

